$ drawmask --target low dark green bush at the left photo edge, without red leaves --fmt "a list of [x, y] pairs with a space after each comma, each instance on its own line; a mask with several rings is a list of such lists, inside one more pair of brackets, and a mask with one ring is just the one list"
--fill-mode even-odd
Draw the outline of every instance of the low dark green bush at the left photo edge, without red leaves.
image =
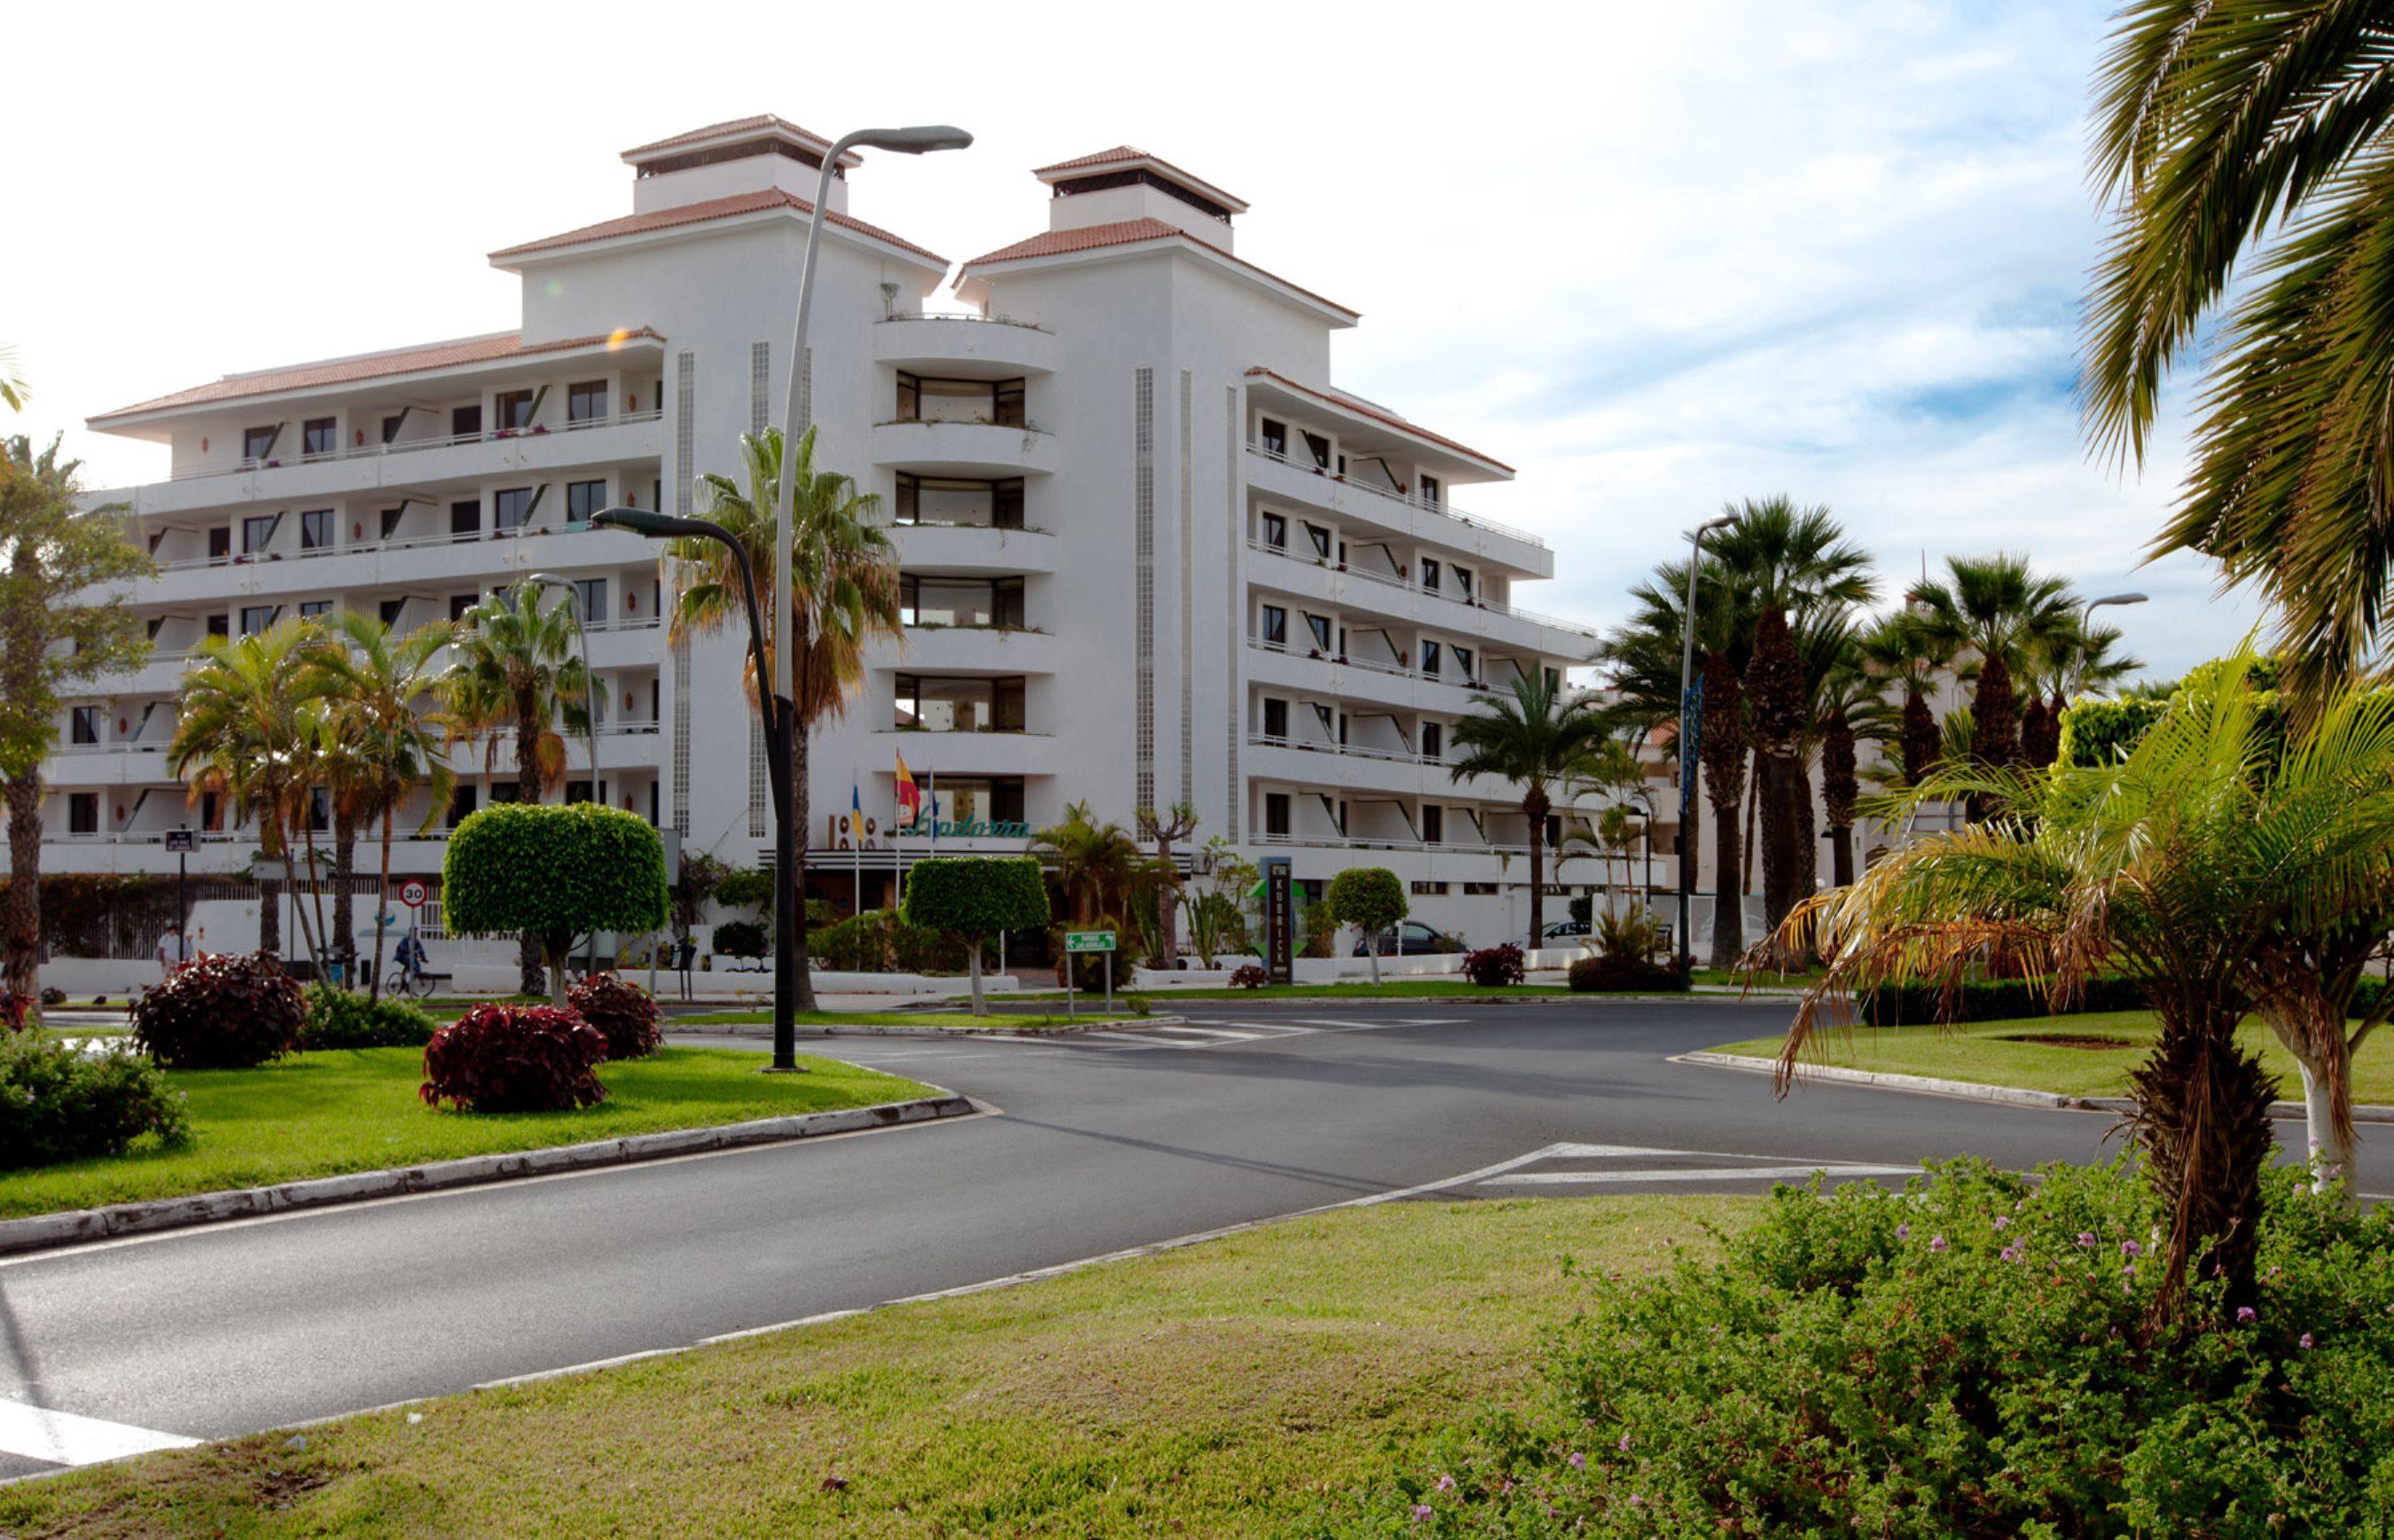
[[0, 1042], [0, 1169], [124, 1154], [136, 1140], [184, 1145], [182, 1092], [148, 1059], [84, 1054], [57, 1037]]

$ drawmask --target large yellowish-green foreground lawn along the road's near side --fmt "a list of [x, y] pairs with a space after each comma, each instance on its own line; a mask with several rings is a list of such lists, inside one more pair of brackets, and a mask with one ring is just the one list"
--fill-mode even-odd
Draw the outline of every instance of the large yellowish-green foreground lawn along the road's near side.
[[1755, 1198], [1391, 1202], [0, 1490], [14, 1535], [1310, 1535]]

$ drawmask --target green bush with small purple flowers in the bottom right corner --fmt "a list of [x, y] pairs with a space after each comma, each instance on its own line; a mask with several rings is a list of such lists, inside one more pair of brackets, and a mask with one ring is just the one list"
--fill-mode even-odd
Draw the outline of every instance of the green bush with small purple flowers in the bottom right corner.
[[[1549, 1408], [1386, 1490], [1412, 1535], [2346, 1535], [2394, 1511], [2394, 1212], [2274, 1169], [2258, 1298], [2150, 1332], [2126, 1164], [1779, 1188], [1716, 1262], [1592, 1279]], [[2200, 1272], [2200, 1269], [2198, 1269]]]

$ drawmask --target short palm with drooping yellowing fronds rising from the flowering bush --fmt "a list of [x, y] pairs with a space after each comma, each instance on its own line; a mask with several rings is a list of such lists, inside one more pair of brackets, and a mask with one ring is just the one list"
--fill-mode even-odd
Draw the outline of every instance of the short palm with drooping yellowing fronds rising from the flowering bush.
[[2162, 1023], [2128, 1123], [2174, 1214], [2164, 1298], [2207, 1245], [2231, 1308], [2253, 1300], [2274, 1092], [2236, 1025], [2248, 1001], [2291, 994], [2277, 975], [2303, 970], [2303, 939], [2356, 915], [2382, 932], [2394, 896], [2394, 697], [2339, 695], [2284, 752], [2248, 663], [2188, 685], [2116, 764], [1963, 764], [1913, 788], [1906, 800], [2009, 812], [1896, 850], [1788, 917], [1829, 970], [1781, 1059], [1784, 1087], [1834, 1008], [1896, 980], [1951, 987], [1999, 968], [2054, 1004], [2097, 972], [2135, 980]]

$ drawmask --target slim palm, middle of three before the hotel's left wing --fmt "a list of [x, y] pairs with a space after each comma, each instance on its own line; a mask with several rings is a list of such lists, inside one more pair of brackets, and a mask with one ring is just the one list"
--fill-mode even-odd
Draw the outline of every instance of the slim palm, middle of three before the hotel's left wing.
[[436, 685], [433, 661], [450, 644], [452, 627], [448, 620], [436, 620], [393, 642], [390, 627], [361, 611], [345, 611], [335, 627], [345, 644], [328, 649], [321, 668], [338, 685], [333, 711], [357, 750], [354, 817], [369, 829], [376, 821], [383, 826], [383, 879], [376, 886], [373, 905], [373, 968], [366, 972], [366, 989], [381, 999], [383, 932], [390, 927], [390, 833], [400, 802], [419, 786], [429, 793], [419, 826], [424, 833], [448, 812], [455, 790], [455, 774], [448, 766], [448, 723], [438, 711], [417, 711], [417, 702]]

